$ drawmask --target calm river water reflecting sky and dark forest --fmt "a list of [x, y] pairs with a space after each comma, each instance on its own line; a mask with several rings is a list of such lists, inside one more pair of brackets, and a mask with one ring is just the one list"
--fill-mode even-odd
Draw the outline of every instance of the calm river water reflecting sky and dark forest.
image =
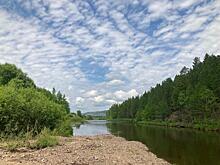
[[111, 133], [144, 143], [158, 157], [179, 165], [220, 165], [220, 134], [190, 129], [89, 121], [75, 135]]

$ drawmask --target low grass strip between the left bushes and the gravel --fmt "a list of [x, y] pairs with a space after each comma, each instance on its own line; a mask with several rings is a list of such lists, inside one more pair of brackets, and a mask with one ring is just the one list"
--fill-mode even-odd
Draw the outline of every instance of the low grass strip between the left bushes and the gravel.
[[33, 135], [32, 132], [22, 133], [21, 135], [5, 135], [0, 133], [0, 148], [8, 151], [17, 151], [19, 148], [25, 147], [30, 149], [42, 149], [59, 145], [58, 136], [72, 136], [74, 123], [84, 122], [85, 119], [79, 116], [70, 116], [68, 119], [54, 129], [53, 131], [44, 128], [38, 135]]

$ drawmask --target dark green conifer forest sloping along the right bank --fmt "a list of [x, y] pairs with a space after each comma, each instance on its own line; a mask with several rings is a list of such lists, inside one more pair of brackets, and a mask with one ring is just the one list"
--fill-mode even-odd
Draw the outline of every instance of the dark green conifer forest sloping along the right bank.
[[174, 80], [166, 79], [142, 96], [114, 104], [109, 119], [207, 129], [220, 128], [220, 56], [205, 55], [183, 67]]

